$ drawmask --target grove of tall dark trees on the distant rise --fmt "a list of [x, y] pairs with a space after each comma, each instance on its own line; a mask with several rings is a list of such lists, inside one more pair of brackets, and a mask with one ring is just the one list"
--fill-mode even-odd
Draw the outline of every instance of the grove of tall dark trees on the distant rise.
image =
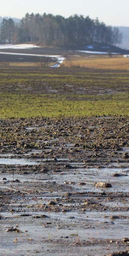
[[106, 26], [98, 18], [73, 15], [29, 14], [19, 24], [3, 19], [0, 26], [1, 43], [35, 42], [45, 45], [76, 46], [86, 44], [118, 45], [122, 35], [117, 27]]

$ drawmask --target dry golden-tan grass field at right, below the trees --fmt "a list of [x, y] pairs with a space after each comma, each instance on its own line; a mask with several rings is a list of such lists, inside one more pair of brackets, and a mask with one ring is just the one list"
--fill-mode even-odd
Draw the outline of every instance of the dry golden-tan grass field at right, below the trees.
[[64, 63], [66, 67], [85, 67], [92, 69], [112, 69], [112, 70], [129, 70], [129, 58], [120, 57], [84, 57], [71, 56], [66, 58]]

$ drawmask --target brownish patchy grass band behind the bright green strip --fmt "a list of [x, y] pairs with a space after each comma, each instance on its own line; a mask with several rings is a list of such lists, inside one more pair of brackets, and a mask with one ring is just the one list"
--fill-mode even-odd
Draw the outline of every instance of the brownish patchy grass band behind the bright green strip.
[[[65, 85], [72, 87], [65, 87]], [[92, 94], [92, 91], [95, 94], [97, 92], [98, 94], [106, 94], [107, 90], [111, 90], [113, 93], [126, 92], [128, 86], [129, 72], [124, 70], [111, 72], [108, 69], [86, 70], [77, 67], [57, 69], [22, 66], [15, 68], [11, 66], [0, 67], [0, 91], [2, 92], [33, 94], [44, 93], [44, 91], [49, 93], [49, 90], [52, 89], [58, 90], [59, 94], [79, 95], [85, 92]]]

